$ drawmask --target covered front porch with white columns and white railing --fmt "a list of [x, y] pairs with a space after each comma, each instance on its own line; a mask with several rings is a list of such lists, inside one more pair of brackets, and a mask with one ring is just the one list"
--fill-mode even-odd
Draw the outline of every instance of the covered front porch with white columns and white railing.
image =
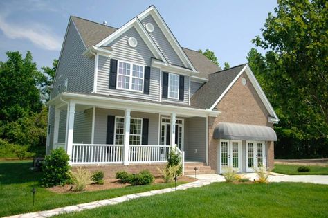
[[63, 147], [71, 165], [165, 163], [172, 147], [183, 162], [208, 162], [205, 110], [147, 106], [103, 100], [60, 102], [47, 149]]

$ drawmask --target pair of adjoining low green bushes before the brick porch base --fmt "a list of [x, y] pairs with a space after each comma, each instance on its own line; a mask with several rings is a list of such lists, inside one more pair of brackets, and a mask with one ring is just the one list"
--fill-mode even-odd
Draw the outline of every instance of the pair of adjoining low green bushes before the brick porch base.
[[119, 171], [116, 172], [116, 179], [131, 185], [147, 185], [154, 181], [154, 176], [148, 170], [143, 170], [138, 174], [128, 174], [125, 171]]

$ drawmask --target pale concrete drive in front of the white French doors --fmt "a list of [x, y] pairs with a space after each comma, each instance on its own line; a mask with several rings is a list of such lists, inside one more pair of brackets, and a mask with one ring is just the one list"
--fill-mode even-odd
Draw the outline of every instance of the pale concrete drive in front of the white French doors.
[[[254, 180], [257, 179], [256, 173], [247, 173], [242, 174], [244, 178]], [[224, 176], [218, 174], [204, 174], [204, 175], [197, 175], [197, 179], [205, 179], [210, 181], [224, 181]], [[316, 175], [284, 175], [284, 174], [277, 174], [274, 172], [270, 173], [268, 176], [269, 182], [296, 182], [296, 183], [315, 183], [315, 184], [324, 184], [328, 185], [328, 176], [316, 176]]]

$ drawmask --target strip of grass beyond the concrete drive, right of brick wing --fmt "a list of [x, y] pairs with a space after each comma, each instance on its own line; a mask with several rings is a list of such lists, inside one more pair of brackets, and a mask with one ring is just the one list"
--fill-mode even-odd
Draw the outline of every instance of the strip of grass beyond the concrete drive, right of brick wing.
[[328, 167], [309, 166], [310, 172], [298, 172], [298, 167], [300, 166], [301, 165], [275, 164], [272, 172], [287, 175], [328, 175]]

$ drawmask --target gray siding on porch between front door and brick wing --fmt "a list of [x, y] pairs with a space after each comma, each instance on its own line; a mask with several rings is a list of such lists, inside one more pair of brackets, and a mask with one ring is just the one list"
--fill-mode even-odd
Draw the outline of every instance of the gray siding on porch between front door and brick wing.
[[[205, 162], [206, 119], [188, 118], [188, 155], [186, 159]], [[194, 153], [197, 149], [197, 153]]]

